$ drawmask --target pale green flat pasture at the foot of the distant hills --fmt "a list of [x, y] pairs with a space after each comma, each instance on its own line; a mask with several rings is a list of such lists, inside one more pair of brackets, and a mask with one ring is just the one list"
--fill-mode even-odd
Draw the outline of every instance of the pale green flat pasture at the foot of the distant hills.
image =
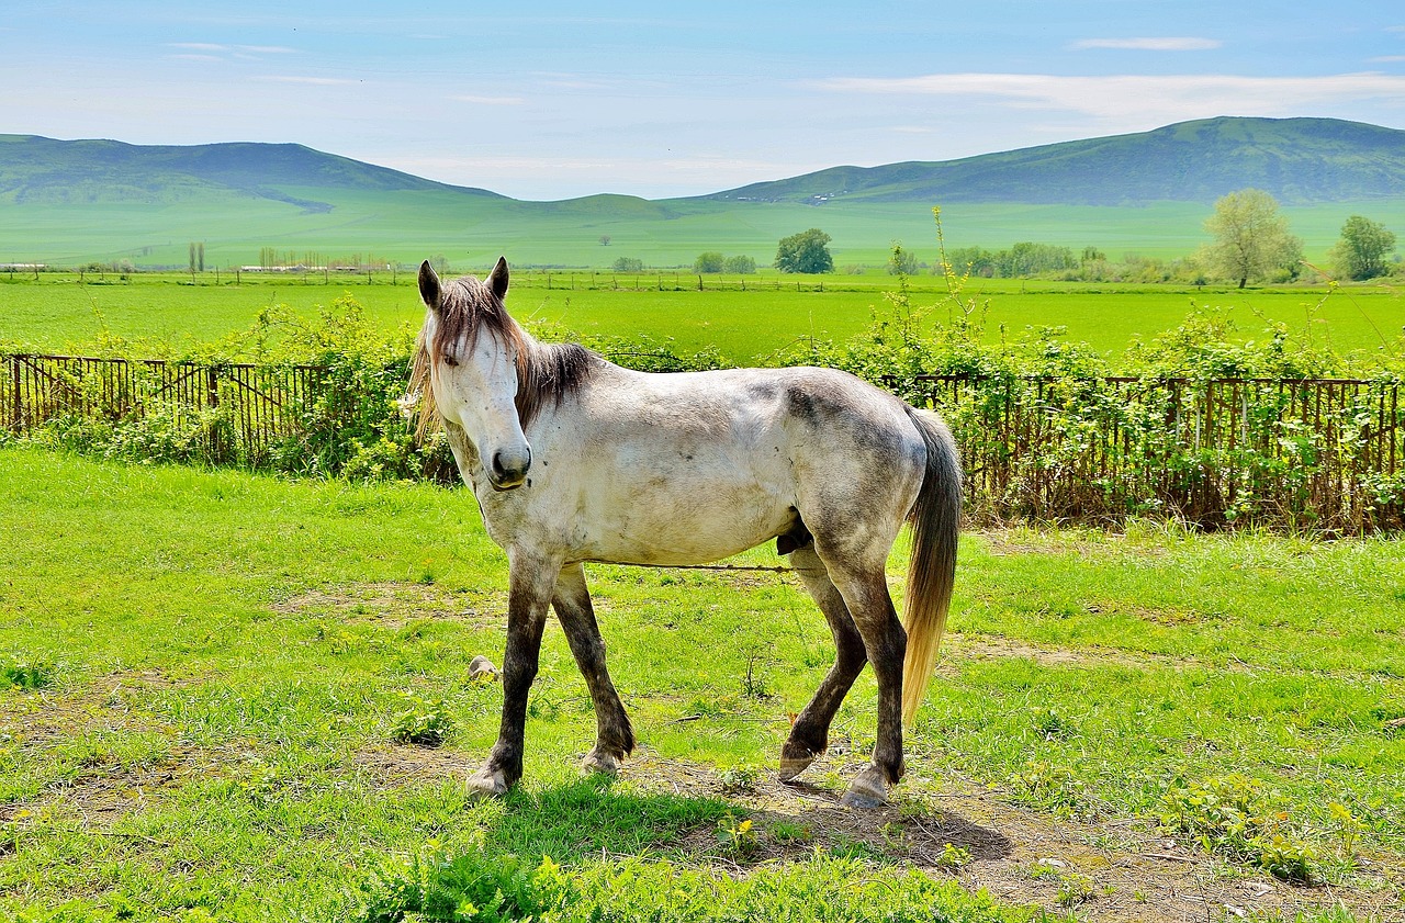
[[[562, 202], [524, 202], [464, 190], [343, 191], [282, 190], [325, 201], [325, 211], [243, 197], [160, 202], [4, 202], [0, 263], [72, 267], [131, 260], [139, 267], [184, 267], [191, 242], [205, 244], [205, 264], [259, 263], [261, 247], [320, 254], [362, 254], [416, 266], [441, 254], [452, 266], [486, 266], [506, 253], [518, 266], [610, 267], [618, 257], [651, 267], [688, 267], [705, 250], [750, 256], [770, 266], [777, 242], [806, 228], [833, 237], [839, 268], [882, 267], [894, 242], [934, 261], [932, 205], [943, 207], [948, 247], [1009, 247], [1037, 242], [1110, 258], [1186, 256], [1208, 240], [1208, 205], [1158, 202], [1141, 207], [1017, 205], [969, 202], [722, 202], [645, 201], [593, 195]], [[1322, 260], [1349, 215], [1388, 219], [1399, 201], [1286, 207], [1309, 260]], [[608, 244], [601, 243], [608, 237]]]

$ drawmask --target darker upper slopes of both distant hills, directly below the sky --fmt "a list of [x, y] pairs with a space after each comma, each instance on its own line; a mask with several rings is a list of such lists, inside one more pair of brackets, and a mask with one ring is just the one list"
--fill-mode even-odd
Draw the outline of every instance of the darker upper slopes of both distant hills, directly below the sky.
[[[1220, 117], [957, 160], [837, 166], [705, 195], [597, 194], [562, 201], [632, 202], [632, 208], [680, 201], [1208, 204], [1245, 187], [1263, 188], [1284, 204], [1401, 197], [1405, 131], [1329, 118]], [[0, 201], [163, 204], [246, 197], [306, 212], [334, 208], [326, 201], [334, 197], [319, 197], [318, 190], [441, 191], [523, 202], [296, 143], [145, 146], [0, 135]]]

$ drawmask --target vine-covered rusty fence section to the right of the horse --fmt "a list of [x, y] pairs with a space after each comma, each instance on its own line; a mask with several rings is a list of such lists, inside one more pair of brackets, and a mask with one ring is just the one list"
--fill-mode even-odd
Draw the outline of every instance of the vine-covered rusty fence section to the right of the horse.
[[1405, 525], [1405, 403], [1361, 379], [889, 381], [941, 412], [998, 516], [1169, 514], [1361, 532]]

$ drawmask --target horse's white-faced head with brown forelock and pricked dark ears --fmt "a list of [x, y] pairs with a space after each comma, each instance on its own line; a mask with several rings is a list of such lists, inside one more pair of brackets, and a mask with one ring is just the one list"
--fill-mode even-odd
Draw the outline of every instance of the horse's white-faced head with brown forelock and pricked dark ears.
[[486, 281], [466, 277], [445, 285], [427, 260], [420, 266], [420, 298], [429, 312], [414, 386], [445, 426], [464, 431], [496, 490], [520, 487], [531, 468], [517, 412], [527, 340], [503, 308], [506, 294], [504, 258]]

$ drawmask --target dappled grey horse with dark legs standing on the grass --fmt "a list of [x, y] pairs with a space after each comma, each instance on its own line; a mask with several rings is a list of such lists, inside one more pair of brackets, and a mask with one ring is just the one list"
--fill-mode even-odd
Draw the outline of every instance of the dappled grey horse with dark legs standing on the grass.
[[[507, 645], [497, 742], [473, 797], [523, 775], [527, 695], [554, 608], [590, 691], [584, 770], [614, 774], [635, 738], [610, 673], [583, 565], [715, 562], [776, 539], [819, 605], [836, 657], [794, 719], [780, 780], [823, 754], [840, 702], [871, 663], [871, 761], [842, 802], [887, 802], [903, 775], [902, 729], [930, 681], [955, 575], [961, 465], [937, 414], [846, 372], [752, 368], [646, 374], [576, 344], [531, 337], [504, 306], [509, 268], [441, 282], [426, 305], [407, 405], [441, 427], [488, 535], [507, 552]], [[885, 562], [912, 524], [905, 622]]]

